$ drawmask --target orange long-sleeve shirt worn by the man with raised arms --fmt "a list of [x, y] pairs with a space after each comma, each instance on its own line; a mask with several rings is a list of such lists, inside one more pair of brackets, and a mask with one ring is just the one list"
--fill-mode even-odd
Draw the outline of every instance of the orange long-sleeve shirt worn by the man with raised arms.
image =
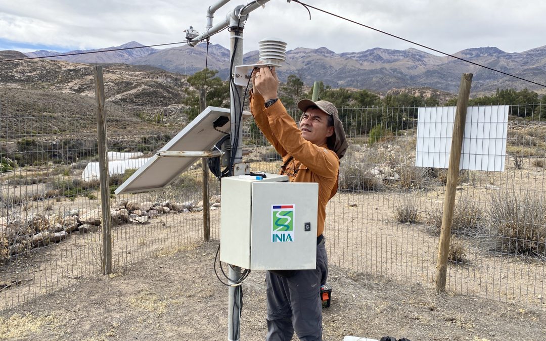
[[[281, 155], [289, 170], [290, 182], [318, 183], [317, 236], [324, 232], [326, 205], [337, 192], [337, 175], [340, 160], [326, 144], [317, 146], [301, 136], [301, 130], [288, 115], [281, 100], [266, 108], [264, 98], [251, 93], [250, 106], [258, 128]], [[290, 157], [292, 159], [290, 160]], [[294, 170], [295, 176], [290, 176]]]

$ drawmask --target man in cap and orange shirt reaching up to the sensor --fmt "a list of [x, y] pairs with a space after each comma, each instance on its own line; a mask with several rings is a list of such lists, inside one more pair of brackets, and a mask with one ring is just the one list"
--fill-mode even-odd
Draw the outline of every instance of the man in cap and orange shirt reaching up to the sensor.
[[251, 112], [256, 124], [282, 156], [281, 174], [290, 182], [318, 183], [317, 267], [315, 270], [266, 272], [268, 341], [322, 340], [321, 285], [328, 276], [323, 236], [326, 205], [337, 192], [339, 159], [347, 149], [336, 107], [302, 99], [299, 128], [278, 99], [275, 68], [252, 73]]

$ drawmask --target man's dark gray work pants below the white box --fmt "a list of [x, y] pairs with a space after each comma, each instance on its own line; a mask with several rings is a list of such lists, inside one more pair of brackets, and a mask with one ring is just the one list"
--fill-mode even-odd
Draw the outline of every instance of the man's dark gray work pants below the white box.
[[317, 245], [317, 267], [282, 277], [266, 271], [268, 341], [322, 340], [321, 285], [328, 277], [324, 241]]

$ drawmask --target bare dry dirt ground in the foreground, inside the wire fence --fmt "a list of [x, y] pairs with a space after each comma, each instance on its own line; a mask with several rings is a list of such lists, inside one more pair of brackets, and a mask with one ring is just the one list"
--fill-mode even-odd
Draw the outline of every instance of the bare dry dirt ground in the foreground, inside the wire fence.
[[[0, 339], [225, 340], [227, 288], [213, 272], [216, 242], [190, 244], [4, 310]], [[324, 340], [346, 335], [414, 340], [538, 340], [544, 312], [330, 267]], [[263, 340], [265, 283], [244, 286], [242, 340]]]

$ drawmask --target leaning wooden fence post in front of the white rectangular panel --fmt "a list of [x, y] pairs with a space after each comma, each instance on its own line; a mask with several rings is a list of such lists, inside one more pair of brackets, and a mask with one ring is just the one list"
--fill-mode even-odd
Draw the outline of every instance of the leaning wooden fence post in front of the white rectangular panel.
[[472, 84], [472, 74], [462, 74], [459, 86], [459, 97], [455, 111], [451, 151], [449, 154], [449, 166], [447, 171], [446, 194], [443, 201], [442, 228], [440, 230], [440, 243], [438, 244], [438, 261], [436, 263], [436, 292], [446, 292], [447, 261], [449, 255], [449, 239], [451, 236], [451, 224], [453, 223], [453, 210], [455, 207], [455, 191], [459, 178], [459, 162], [461, 160], [462, 137], [465, 134], [466, 109]]

